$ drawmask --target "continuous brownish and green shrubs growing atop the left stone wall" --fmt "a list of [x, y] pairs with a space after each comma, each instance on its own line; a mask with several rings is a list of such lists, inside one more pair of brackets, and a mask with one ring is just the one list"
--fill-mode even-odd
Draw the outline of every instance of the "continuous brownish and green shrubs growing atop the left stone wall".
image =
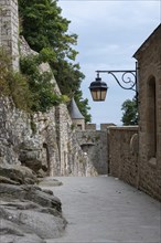
[[52, 106], [64, 102], [65, 97], [53, 92], [52, 73], [40, 73], [39, 55], [20, 61], [21, 72], [13, 72], [11, 56], [0, 50], [0, 95], [13, 99], [15, 107], [32, 112], [46, 112]]

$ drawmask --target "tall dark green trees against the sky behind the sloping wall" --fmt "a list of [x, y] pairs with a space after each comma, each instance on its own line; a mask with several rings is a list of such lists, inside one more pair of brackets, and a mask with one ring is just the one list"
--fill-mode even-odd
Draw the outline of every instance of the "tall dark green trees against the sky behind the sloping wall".
[[[41, 61], [50, 63], [62, 94], [69, 98], [74, 96], [85, 120], [90, 122], [88, 101], [83, 98], [80, 92], [80, 83], [85, 76], [79, 64], [75, 63], [78, 52], [73, 46], [77, 44], [77, 35], [68, 34], [69, 21], [61, 12], [57, 1], [54, 0], [19, 0], [20, 34], [31, 49], [39, 52]], [[44, 85], [45, 81], [46, 76], [42, 77], [39, 85]], [[33, 92], [37, 88], [34, 85]], [[54, 102], [53, 95], [45, 89], [50, 101], [43, 98], [40, 103], [55, 105], [57, 97]], [[40, 104], [35, 103], [33, 109], [40, 109]]]

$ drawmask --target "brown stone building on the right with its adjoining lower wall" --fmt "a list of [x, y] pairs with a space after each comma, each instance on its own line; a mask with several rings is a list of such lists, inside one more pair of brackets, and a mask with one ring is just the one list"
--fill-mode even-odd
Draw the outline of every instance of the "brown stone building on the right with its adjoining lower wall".
[[133, 56], [139, 127], [109, 128], [110, 173], [161, 201], [161, 24]]

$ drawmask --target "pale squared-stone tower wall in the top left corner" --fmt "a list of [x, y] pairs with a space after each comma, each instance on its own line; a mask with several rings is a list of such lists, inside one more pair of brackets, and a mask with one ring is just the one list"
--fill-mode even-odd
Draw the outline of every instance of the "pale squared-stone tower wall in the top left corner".
[[18, 1], [0, 1], [0, 46], [12, 56], [12, 67], [19, 70], [19, 19]]

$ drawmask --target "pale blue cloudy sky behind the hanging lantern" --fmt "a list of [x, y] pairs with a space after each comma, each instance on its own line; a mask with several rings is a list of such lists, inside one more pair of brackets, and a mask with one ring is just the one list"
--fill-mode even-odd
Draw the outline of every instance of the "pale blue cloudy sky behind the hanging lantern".
[[72, 21], [69, 33], [78, 35], [76, 61], [86, 76], [82, 91], [92, 107], [92, 122], [121, 125], [121, 104], [135, 93], [120, 88], [109, 74], [101, 75], [109, 87], [106, 102], [93, 102], [88, 87], [96, 70], [135, 70], [132, 55], [161, 22], [161, 0], [60, 0], [57, 4]]

